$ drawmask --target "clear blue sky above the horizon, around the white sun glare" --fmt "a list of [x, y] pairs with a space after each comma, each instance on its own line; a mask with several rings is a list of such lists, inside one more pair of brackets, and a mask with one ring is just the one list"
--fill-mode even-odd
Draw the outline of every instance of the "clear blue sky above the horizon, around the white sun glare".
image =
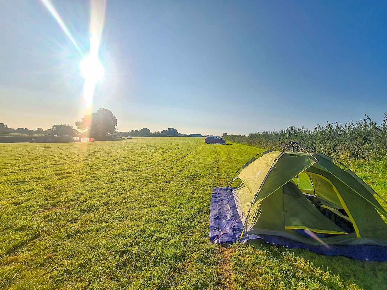
[[[97, 0], [94, 0], [94, 2]], [[98, 2], [98, 1], [97, 1]], [[380, 123], [387, 111], [387, 2], [107, 0], [92, 107], [79, 64], [91, 3], [0, 2], [0, 123], [74, 125], [110, 109], [118, 130], [249, 134]]]

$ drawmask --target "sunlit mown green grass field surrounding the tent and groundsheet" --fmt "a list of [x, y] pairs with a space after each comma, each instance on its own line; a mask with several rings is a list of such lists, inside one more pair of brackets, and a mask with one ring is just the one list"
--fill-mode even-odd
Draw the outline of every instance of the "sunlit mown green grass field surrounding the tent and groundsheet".
[[[211, 188], [257, 153], [203, 138], [0, 144], [4, 289], [386, 289], [387, 263], [209, 244]], [[387, 166], [351, 166], [387, 197]]]

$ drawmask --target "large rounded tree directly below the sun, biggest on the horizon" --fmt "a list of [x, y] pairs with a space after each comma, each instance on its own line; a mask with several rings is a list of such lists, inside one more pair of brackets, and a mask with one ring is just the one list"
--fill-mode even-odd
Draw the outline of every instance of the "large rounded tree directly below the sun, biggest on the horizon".
[[118, 131], [116, 116], [105, 108], [98, 109], [96, 113], [91, 115], [85, 115], [81, 121], [75, 122], [75, 126], [82, 131], [88, 129], [89, 135], [99, 138]]

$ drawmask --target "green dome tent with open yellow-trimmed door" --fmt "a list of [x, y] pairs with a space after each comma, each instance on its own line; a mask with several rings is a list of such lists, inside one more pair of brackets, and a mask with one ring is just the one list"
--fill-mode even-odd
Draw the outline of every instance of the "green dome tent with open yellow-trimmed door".
[[[286, 151], [291, 147], [293, 152]], [[232, 191], [243, 223], [240, 238], [274, 235], [310, 245], [387, 246], [382, 218], [387, 212], [375, 191], [348, 168], [305, 148], [292, 142], [281, 151], [267, 150], [233, 177], [230, 186], [241, 181]]]

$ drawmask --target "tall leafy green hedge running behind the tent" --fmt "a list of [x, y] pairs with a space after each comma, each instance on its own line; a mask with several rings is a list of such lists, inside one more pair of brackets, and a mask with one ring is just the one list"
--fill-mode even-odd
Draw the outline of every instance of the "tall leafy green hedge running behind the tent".
[[327, 122], [313, 130], [289, 126], [279, 131], [262, 131], [248, 136], [226, 135], [226, 140], [272, 148], [282, 143], [296, 141], [334, 158], [385, 159], [387, 156], [387, 113], [382, 125], [364, 114], [364, 119], [346, 124]]

